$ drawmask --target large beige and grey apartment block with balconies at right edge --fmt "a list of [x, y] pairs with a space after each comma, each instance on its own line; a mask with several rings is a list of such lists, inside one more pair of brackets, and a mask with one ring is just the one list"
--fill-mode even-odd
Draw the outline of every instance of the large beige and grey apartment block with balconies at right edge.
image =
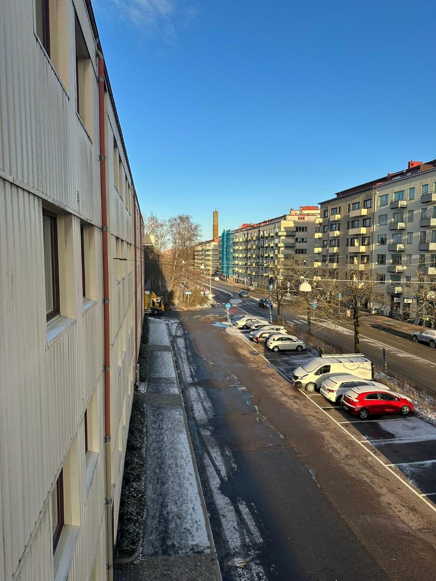
[[[436, 274], [436, 160], [338, 192], [320, 203], [321, 266], [371, 269], [384, 284], [384, 314], [418, 307], [413, 283]], [[435, 278], [436, 282], [436, 278]]]

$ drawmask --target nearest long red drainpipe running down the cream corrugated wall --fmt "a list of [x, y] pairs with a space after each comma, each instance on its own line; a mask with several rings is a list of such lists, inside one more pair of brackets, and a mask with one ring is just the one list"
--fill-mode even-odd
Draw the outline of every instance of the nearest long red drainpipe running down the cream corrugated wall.
[[108, 544], [108, 581], [113, 580], [112, 531], [112, 476], [110, 474], [110, 336], [109, 336], [109, 256], [108, 256], [108, 205], [106, 199], [105, 153], [105, 71], [103, 55], [98, 51], [98, 127], [100, 142], [100, 193], [103, 259], [103, 368], [105, 374], [105, 457], [106, 457], [106, 529]]

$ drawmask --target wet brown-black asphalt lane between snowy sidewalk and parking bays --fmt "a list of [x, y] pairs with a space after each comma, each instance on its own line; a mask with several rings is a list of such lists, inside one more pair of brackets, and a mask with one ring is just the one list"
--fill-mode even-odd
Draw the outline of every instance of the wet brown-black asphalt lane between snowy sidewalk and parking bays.
[[[433, 579], [436, 513], [384, 450], [359, 443], [394, 434], [379, 422], [345, 429], [350, 417], [278, 375], [307, 354], [266, 361], [223, 315], [168, 318], [223, 579]], [[423, 441], [428, 455], [435, 442]], [[399, 447], [389, 453], [403, 461]]]

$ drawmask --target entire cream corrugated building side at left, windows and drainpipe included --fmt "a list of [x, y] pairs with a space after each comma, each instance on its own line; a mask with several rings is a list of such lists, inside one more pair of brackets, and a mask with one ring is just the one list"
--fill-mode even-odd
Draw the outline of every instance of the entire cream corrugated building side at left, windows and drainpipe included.
[[1, 13], [0, 578], [112, 579], [141, 211], [90, 2]]

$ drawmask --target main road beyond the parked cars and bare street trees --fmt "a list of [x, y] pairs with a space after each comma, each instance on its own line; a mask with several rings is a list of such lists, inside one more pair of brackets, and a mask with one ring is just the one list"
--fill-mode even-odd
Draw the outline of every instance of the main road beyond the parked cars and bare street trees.
[[[226, 284], [222, 281], [213, 282], [214, 292], [218, 302], [225, 302], [231, 293], [238, 298], [239, 288], [235, 285]], [[220, 294], [221, 293], [221, 294]], [[260, 296], [260, 295], [259, 295]], [[242, 299], [244, 310], [248, 313], [268, 317], [269, 311], [258, 306], [258, 297]], [[277, 309], [273, 309], [273, 318], [277, 314]], [[284, 318], [306, 328], [301, 317], [296, 317], [292, 313], [292, 306], [285, 306], [283, 310]], [[388, 325], [382, 329], [371, 327], [371, 317], [362, 317], [360, 325], [360, 351], [370, 358], [373, 363], [384, 370], [383, 347], [387, 350], [388, 374], [404, 378], [410, 385], [427, 393], [436, 396], [436, 349], [431, 349], [421, 343], [413, 343], [406, 333], [394, 332]], [[326, 327], [327, 325], [327, 327]], [[312, 333], [315, 336], [326, 340], [334, 340], [341, 345], [346, 353], [354, 352], [354, 339], [352, 325], [340, 325], [341, 329], [334, 328], [334, 325], [315, 318], [312, 321]]]

